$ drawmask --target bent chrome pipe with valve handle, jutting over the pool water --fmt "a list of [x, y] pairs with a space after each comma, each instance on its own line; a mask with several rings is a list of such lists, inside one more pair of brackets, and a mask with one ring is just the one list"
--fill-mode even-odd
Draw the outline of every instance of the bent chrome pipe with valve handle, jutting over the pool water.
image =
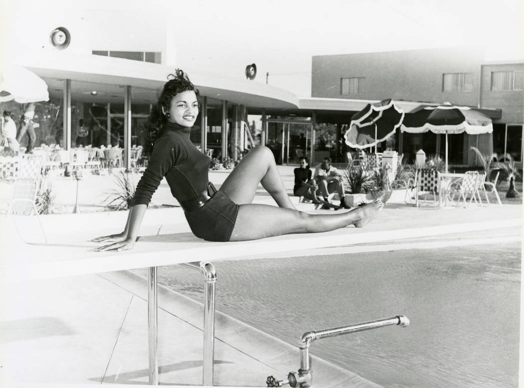
[[311, 356], [309, 348], [311, 343], [316, 339], [336, 337], [343, 334], [363, 332], [364, 330], [378, 329], [390, 325], [400, 325], [406, 327], [409, 325], [409, 318], [404, 315], [396, 315], [391, 318], [378, 319], [377, 321], [363, 322], [350, 326], [334, 327], [324, 329], [320, 332], [305, 332], [300, 336], [300, 369], [298, 372], [289, 372], [287, 379], [276, 380], [273, 376], [268, 376], [266, 384], [268, 387], [283, 386], [289, 384], [291, 387], [309, 387], [312, 383], [311, 375]]

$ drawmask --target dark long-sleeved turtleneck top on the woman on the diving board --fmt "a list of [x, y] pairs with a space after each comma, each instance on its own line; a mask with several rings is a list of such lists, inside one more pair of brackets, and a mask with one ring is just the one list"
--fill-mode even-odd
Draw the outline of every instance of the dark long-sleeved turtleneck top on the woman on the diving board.
[[153, 146], [144, 175], [138, 182], [132, 205], [149, 204], [153, 193], [166, 177], [179, 202], [195, 198], [208, 189], [211, 159], [189, 140], [191, 128], [168, 122]]

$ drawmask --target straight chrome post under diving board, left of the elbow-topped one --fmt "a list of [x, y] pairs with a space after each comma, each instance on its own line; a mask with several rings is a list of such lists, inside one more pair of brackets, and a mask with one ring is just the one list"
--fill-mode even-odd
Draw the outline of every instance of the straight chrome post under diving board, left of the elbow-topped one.
[[147, 276], [147, 328], [149, 343], [149, 385], [158, 385], [158, 300], [157, 267], [149, 267]]

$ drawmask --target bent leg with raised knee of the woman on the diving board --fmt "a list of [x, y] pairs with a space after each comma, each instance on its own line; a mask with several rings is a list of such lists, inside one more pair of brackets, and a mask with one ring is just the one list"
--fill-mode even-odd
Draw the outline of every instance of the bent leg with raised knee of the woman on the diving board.
[[252, 203], [258, 184], [281, 208], [295, 209], [278, 173], [275, 157], [265, 146], [255, 147], [233, 169], [220, 189], [238, 204]]

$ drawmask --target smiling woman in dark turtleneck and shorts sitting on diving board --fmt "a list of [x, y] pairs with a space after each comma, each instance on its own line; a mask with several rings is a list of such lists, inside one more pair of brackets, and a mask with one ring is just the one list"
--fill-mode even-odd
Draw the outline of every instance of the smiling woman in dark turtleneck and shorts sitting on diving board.
[[[138, 182], [124, 231], [95, 238], [93, 241], [110, 243], [96, 250], [120, 251], [135, 246], [151, 196], [164, 177], [193, 234], [207, 241], [245, 241], [288, 233], [326, 232], [348, 225], [363, 227], [383, 208], [383, 203], [376, 201], [336, 214], [296, 210], [278, 174], [275, 158], [264, 146], [249, 151], [220, 190], [210, 190], [210, 158], [189, 138], [199, 113], [199, 92], [181, 70], [169, 78], [146, 124], [145, 146], [152, 146], [152, 153]], [[252, 203], [259, 183], [278, 207]]]

